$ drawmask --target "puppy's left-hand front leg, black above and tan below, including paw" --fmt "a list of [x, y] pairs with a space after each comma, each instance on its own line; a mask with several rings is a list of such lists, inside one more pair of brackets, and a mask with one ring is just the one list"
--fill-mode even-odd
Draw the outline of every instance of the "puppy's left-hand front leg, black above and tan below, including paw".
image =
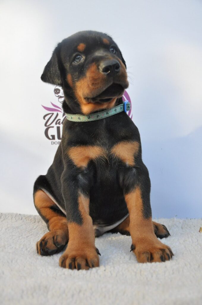
[[87, 170], [72, 169], [68, 173], [64, 171], [62, 176], [69, 230], [68, 246], [59, 260], [64, 268], [87, 270], [99, 266], [99, 251], [95, 247], [92, 218], [89, 216], [89, 183]]

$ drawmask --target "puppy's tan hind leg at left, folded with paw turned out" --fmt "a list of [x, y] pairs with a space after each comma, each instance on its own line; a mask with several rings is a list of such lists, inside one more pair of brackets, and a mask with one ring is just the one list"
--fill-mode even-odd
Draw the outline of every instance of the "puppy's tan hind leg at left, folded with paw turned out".
[[34, 205], [49, 229], [49, 232], [37, 242], [37, 253], [40, 255], [59, 253], [68, 242], [66, 216], [40, 189], [34, 195]]

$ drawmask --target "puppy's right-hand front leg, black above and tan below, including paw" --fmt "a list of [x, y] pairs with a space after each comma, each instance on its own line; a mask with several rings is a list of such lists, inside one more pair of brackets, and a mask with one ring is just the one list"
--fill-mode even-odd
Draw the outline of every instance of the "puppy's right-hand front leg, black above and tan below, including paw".
[[131, 251], [140, 263], [170, 260], [172, 250], [160, 242], [154, 233], [147, 168], [142, 163], [141, 167], [129, 167], [124, 175], [122, 183], [130, 216]]

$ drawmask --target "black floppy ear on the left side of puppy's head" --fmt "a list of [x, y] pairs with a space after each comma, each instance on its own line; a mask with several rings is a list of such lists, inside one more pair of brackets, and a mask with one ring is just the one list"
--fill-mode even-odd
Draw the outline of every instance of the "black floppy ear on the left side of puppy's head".
[[57, 53], [58, 45], [54, 49], [51, 59], [44, 68], [44, 72], [41, 75], [41, 80], [45, 83], [62, 86]]

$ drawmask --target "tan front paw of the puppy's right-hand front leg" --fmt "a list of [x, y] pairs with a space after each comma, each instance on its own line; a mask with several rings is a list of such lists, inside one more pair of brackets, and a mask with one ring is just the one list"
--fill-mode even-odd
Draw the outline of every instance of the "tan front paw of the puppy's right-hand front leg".
[[157, 238], [140, 239], [131, 245], [139, 263], [165, 262], [174, 254], [169, 246], [160, 242]]

